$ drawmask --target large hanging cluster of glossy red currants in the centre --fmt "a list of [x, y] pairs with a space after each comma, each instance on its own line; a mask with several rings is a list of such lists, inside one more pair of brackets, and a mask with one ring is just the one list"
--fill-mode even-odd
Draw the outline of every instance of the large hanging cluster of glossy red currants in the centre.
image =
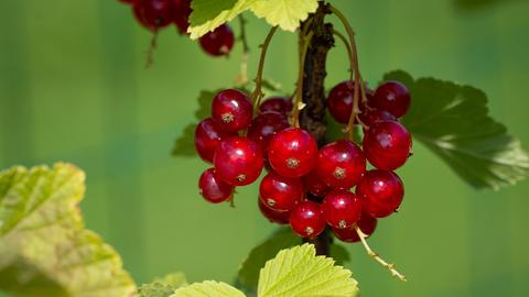
[[[331, 90], [327, 108], [337, 122], [350, 121], [354, 89], [353, 81], [345, 81]], [[270, 221], [290, 223], [303, 238], [317, 237], [327, 224], [346, 242], [359, 241], [355, 227], [371, 234], [377, 219], [393, 213], [403, 198], [402, 182], [393, 170], [411, 151], [411, 136], [398, 122], [410, 96], [397, 81], [367, 89], [366, 95], [356, 122], [364, 128], [361, 148], [338, 140], [319, 150], [307, 131], [290, 127], [289, 98], [263, 101], [252, 119], [246, 94], [220, 91], [213, 99], [212, 118], [195, 130], [196, 151], [214, 165], [199, 178], [202, 196], [214, 204], [230, 200], [236, 186], [253, 183], [266, 167], [259, 209]], [[374, 169], [366, 170], [366, 160]]]

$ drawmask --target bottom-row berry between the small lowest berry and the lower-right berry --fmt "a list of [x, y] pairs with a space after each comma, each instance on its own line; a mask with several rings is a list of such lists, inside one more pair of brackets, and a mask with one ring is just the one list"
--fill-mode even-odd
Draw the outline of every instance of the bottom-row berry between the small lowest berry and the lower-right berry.
[[361, 200], [348, 190], [333, 190], [325, 195], [322, 211], [331, 227], [346, 229], [360, 218]]

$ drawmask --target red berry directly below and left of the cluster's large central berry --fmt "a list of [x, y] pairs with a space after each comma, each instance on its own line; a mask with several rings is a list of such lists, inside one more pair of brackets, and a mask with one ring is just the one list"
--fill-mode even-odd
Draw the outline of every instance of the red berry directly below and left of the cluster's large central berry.
[[270, 172], [261, 180], [259, 198], [270, 209], [290, 211], [303, 200], [303, 184], [299, 178], [283, 177]]

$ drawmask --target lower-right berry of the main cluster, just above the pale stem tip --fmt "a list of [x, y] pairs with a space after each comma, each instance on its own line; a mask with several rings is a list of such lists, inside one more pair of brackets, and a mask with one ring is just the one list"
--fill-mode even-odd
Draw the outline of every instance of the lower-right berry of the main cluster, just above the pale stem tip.
[[404, 186], [399, 176], [388, 170], [369, 170], [356, 187], [363, 199], [364, 211], [375, 218], [393, 213], [404, 197]]

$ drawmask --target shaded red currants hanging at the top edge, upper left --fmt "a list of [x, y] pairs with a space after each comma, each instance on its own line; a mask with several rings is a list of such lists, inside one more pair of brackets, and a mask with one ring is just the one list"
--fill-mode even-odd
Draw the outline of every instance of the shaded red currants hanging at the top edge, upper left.
[[[160, 29], [175, 24], [181, 34], [187, 33], [192, 12], [191, 0], [118, 0], [132, 6], [137, 21], [156, 33]], [[199, 38], [201, 47], [212, 56], [225, 56], [231, 51], [235, 36], [231, 29], [223, 24]]]

